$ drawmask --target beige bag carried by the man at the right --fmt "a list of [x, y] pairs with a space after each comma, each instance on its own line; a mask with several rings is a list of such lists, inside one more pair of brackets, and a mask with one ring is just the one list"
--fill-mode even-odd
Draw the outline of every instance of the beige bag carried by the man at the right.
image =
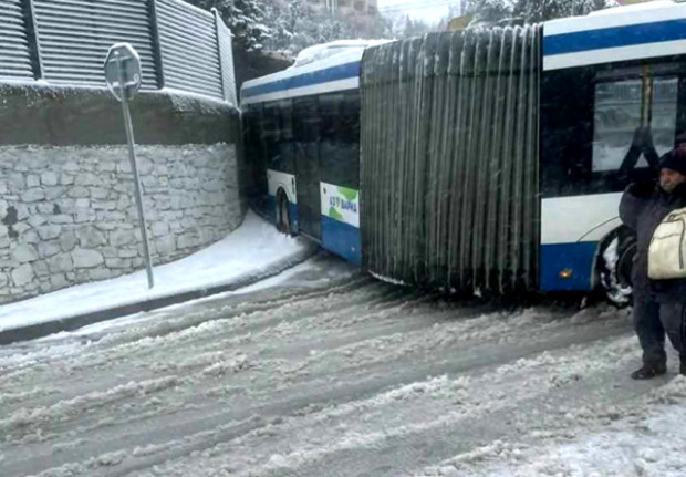
[[655, 229], [648, 248], [648, 277], [686, 278], [686, 208], [671, 212]]

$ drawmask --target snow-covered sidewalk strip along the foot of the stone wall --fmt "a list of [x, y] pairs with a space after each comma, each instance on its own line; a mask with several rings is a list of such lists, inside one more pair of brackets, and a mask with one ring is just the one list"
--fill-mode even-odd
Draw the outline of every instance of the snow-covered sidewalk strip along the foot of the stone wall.
[[154, 267], [152, 290], [145, 270], [66, 288], [0, 307], [0, 331], [260, 276], [310, 247], [304, 240], [279, 234], [272, 224], [249, 211], [243, 224], [217, 243], [181, 260]]

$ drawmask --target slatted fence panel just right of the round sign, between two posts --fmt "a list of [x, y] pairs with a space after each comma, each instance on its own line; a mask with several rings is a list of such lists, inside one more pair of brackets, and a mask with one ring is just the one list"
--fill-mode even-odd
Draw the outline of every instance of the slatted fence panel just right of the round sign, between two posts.
[[180, 0], [157, 0], [165, 86], [224, 98], [215, 15]]

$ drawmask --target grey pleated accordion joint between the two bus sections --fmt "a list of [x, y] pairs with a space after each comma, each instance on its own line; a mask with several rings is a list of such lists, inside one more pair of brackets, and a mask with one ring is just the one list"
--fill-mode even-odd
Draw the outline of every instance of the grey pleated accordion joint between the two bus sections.
[[538, 287], [539, 25], [367, 49], [361, 74], [363, 265], [396, 281]]

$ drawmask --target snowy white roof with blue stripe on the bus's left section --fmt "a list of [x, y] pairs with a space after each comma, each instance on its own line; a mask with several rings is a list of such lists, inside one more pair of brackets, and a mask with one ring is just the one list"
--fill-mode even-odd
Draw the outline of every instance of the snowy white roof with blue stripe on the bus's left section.
[[241, 104], [357, 89], [364, 49], [383, 42], [350, 40], [312, 46], [294, 66], [246, 81], [240, 90]]

